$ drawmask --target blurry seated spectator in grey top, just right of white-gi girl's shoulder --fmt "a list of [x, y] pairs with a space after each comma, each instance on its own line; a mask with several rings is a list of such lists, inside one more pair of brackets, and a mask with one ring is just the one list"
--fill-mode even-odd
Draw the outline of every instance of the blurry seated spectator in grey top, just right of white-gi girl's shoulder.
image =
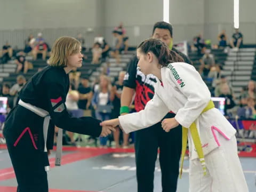
[[213, 54], [210, 54], [211, 50], [206, 50], [202, 59], [199, 60], [201, 66], [199, 67], [199, 73], [203, 77], [207, 77], [212, 66], [215, 65], [215, 60]]

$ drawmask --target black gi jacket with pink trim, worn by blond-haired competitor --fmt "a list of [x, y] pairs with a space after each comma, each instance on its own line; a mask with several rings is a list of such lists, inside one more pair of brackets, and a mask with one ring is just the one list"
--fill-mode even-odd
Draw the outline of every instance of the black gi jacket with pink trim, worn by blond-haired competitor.
[[[51, 116], [47, 136], [47, 149], [53, 147], [54, 125], [63, 130], [99, 137], [101, 121], [92, 117], [73, 118], [65, 106], [69, 90], [69, 77], [62, 67], [45, 67], [31, 77], [22, 88], [19, 98], [49, 112]], [[32, 111], [17, 105], [7, 116], [4, 136], [14, 143], [21, 132], [29, 127], [38, 149], [44, 149], [43, 119]]]

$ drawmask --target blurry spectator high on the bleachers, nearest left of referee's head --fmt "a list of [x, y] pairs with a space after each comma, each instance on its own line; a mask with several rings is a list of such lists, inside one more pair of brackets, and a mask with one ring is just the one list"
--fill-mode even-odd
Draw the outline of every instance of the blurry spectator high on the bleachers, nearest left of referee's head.
[[122, 30], [114, 30], [112, 34], [115, 38], [115, 46], [111, 51], [111, 56], [116, 59], [116, 63], [120, 63], [120, 52], [123, 51], [123, 33]]

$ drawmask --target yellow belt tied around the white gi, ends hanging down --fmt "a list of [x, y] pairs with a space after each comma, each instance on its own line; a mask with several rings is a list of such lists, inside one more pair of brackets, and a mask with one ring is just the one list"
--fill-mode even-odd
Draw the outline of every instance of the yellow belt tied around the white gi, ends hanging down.
[[[214, 108], [214, 103], [211, 100], [211, 101], [209, 101], [208, 105], [204, 108], [204, 110], [202, 111], [201, 114], [203, 114], [204, 112], [206, 112], [207, 110], [210, 110], [212, 108]], [[196, 148], [196, 151], [197, 151], [197, 155], [199, 157], [199, 160], [201, 162], [201, 165], [202, 165], [203, 170], [204, 170], [204, 175], [205, 175], [206, 174], [206, 166], [205, 166], [205, 160], [204, 160], [204, 153], [203, 153], [201, 140], [200, 140], [195, 122], [193, 122], [190, 125], [189, 130], [191, 132], [192, 140], [194, 142], [194, 145], [195, 145], [195, 148]], [[182, 151], [181, 151], [180, 178], [181, 178], [181, 175], [182, 175], [182, 167], [183, 167], [184, 157], [185, 157], [185, 153], [186, 153], [186, 149], [187, 149], [187, 142], [188, 142], [188, 128], [182, 126]]]

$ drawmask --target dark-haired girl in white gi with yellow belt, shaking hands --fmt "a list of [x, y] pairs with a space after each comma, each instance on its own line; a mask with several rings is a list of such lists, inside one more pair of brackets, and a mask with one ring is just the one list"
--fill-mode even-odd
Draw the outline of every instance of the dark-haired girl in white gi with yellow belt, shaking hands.
[[175, 117], [164, 119], [162, 127], [169, 132], [182, 125], [181, 171], [189, 139], [189, 191], [248, 191], [237, 155], [236, 131], [214, 108], [210, 91], [196, 69], [175, 62], [179, 55], [170, 52], [158, 39], [142, 42], [137, 57], [142, 73], [159, 79], [154, 98], [145, 110], [119, 116], [102, 125], [120, 125], [125, 133], [130, 133], [156, 124], [171, 110]]

